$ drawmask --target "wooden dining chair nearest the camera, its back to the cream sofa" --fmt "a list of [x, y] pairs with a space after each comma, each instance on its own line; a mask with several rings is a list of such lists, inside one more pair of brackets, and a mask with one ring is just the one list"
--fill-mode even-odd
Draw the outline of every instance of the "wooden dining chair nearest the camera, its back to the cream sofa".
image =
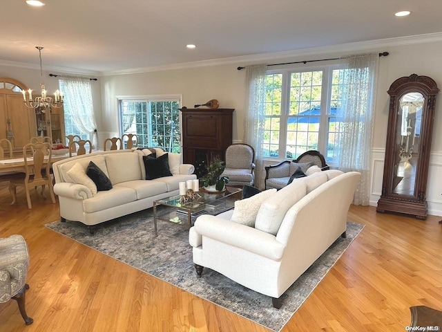
[[[33, 165], [29, 165], [32, 156]], [[23, 147], [23, 160], [25, 173], [18, 177], [12, 178], [9, 185], [9, 192], [12, 196], [11, 205], [17, 201], [17, 186], [25, 188], [26, 201], [28, 209], [32, 209], [30, 201], [30, 189], [41, 185], [41, 193], [44, 196], [44, 188], [48, 185], [50, 198], [55, 204], [54, 188], [52, 185], [52, 177], [50, 175], [50, 161], [52, 158], [52, 149], [48, 142], [28, 143]], [[46, 198], [46, 196], [44, 196]]]

